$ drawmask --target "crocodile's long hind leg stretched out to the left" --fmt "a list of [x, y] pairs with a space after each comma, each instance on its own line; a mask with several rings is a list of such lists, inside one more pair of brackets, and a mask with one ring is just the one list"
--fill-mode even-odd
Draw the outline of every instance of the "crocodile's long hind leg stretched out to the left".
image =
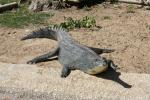
[[35, 64], [35, 63], [38, 63], [38, 62], [45, 61], [45, 60], [47, 60], [50, 57], [57, 56], [58, 52], [59, 52], [59, 48], [57, 48], [54, 51], [51, 51], [49, 53], [46, 53], [44, 55], [38, 56], [38, 57], [28, 61], [27, 64]]

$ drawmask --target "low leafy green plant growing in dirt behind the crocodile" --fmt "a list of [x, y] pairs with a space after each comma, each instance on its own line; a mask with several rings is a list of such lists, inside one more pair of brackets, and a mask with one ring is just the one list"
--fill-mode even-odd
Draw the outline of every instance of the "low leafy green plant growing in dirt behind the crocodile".
[[80, 20], [75, 20], [71, 17], [67, 18], [65, 22], [60, 23], [59, 25], [50, 25], [58, 26], [65, 28], [67, 30], [75, 29], [75, 28], [92, 28], [96, 26], [96, 21], [93, 17], [85, 16]]

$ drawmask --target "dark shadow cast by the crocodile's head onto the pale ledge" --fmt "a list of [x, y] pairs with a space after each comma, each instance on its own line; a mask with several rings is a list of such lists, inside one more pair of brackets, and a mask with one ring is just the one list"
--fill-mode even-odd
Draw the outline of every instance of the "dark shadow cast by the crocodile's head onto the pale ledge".
[[98, 78], [103, 78], [103, 79], [112, 80], [114, 82], [117, 82], [118, 84], [122, 85], [124, 88], [131, 88], [132, 85], [129, 85], [128, 83], [121, 80], [119, 78], [120, 75], [121, 75], [120, 72], [117, 72], [114, 69], [112, 69], [111, 67], [109, 67], [107, 71], [97, 74], [95, 76]]

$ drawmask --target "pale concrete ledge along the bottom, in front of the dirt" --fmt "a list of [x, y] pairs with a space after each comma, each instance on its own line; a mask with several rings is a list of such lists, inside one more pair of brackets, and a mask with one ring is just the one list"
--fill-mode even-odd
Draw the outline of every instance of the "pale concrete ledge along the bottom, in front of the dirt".
[[0, 99], [150, 100], [149, 74], [106, 72], [91, 76], [73, 71], [63, 79], [60, 72], [61, 68], [0, 63]]

